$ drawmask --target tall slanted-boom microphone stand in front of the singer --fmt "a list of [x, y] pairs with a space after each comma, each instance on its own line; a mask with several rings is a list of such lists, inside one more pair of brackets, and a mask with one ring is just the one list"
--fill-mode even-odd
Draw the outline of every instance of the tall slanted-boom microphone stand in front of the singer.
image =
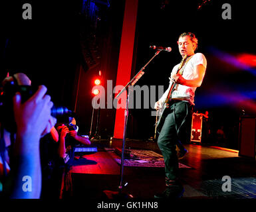
[[[146, 66], [148, 66], [148, 64], [161, 52], [162, 50], [157, 50], [156, 53], [154, 54], [154, 56], [140, 69], [140, 71], [136, 74], [136, 76], [134, 76], [134, 78], [132, 78], [127, 85], [122, 89], [122, 91], [120, 91], [118, 93], [118, 95], [116, 95], [115, 99], [118, 99], [118, 97], [120, 97], [120, 95], [126, 91], [127, 92], [127, 97], [126, 97], [126, 109], [124, 111], [124, 131], [123, 131], [123, 140], [122, 140], [122, 155], [121, 155], [121, 167], [120, 167], [120, 183], [118, 186], [118, 191], [104, 191], [104, 193], [108, 196], [108, 198], [110, 199], [126, 199], [128, 198], [128, 195], [126, 195], [125, 193], [122, 193], [122, 188], [123, 188], [123, 176], [124, 176], [124, 152], [125, 152], [125, 140], [126, 140], [126, 128], [127, 128], [127, 122], [128, 122], [128, 113], [129, 113], [129, 86], [130, 85], [134, 85], [138, 79], [140, 79], [142, 77], [142, 75], [144, 74], [144, 70], [146, 68]], [[124, 185], [126, 186], [127, 183]], [[132, 195], [130, 195], [130, 197], [132, 197]]]

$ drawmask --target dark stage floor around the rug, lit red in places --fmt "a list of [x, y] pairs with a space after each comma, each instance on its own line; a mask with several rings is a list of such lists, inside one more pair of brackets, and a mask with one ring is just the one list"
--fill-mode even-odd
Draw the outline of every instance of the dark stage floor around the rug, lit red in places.
[[[70, 169], [72, 197], [102, 199], [105, 190], [118, 191], [120, 165], [110, 152], [122, 147], [122, 140], [94, 140], [98, 152], [84, 155]], [[256, 198], [256, 162], [241, 158], [237, 152], [220, 150], [210, 146], [185, 144], [188, 154], [180, 163], [190, 168], [180, 168], [180, 180], [184, 185], [183, 199], [253, 199]], [[161, 154], [156, 142], [127, 140], [126, 149], [153, 150]], [[231, 191], [223, 191], [231, 178]], [[154, 193], [165, 188], [163, 167], [124, 166], [122, 190], [134, 198], [153, 199]], [[224, 184], [224, 185], [223, 185]], [[225, 189], [224, 189], [225, 190]]]

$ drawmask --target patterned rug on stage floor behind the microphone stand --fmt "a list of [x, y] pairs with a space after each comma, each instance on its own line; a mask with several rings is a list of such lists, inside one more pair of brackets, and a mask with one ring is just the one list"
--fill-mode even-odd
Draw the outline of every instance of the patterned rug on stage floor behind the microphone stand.
[[[129, 149], [130, 158], [124, 159], [124, 166], [138, 167], [164, 167], [164, 158], [152, 150], [132, 150]], [[114, 151], [109, 152], [118, 164], [121, 164], [121, 159], [117, 158]], [[191, 168], [179, 162], [179, 168]]]

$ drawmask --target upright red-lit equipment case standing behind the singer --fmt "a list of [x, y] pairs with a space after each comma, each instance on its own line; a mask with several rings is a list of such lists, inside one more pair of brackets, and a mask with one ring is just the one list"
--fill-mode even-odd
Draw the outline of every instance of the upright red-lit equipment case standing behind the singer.
[[203, 116], [199, 113], [193, 113], [190, 142], [201, 143], [202, 123], [203, 123]]

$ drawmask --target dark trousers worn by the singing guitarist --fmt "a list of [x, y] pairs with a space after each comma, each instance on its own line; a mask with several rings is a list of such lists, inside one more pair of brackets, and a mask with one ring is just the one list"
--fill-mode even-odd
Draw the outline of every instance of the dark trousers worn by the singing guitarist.
[[166, 177], [178, 178], [178, 158], [176, 144], [178, 140], [188, 143], [190, 140], [193, 105], [186, 101], [173, 101], [168, 108], [168, 115], [158, 136], [158, 146], [162, 151]]

